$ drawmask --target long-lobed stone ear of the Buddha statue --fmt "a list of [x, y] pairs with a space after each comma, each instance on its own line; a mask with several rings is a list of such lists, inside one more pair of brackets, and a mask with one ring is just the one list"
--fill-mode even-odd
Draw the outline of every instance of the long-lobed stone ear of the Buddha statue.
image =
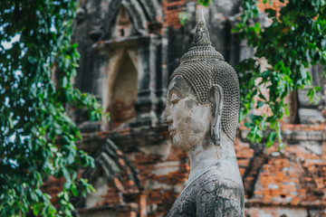
[[212, 104], [211, 137], [214, 145], [219, 146], [221, 140], [221, 119], [223, 109], [223, 89], [215, 84], [210, 90], [210, 103]]

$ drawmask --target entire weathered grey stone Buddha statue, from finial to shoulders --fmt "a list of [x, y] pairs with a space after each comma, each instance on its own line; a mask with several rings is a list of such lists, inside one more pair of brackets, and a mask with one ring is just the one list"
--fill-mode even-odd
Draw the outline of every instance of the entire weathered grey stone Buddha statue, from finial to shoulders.
[[239, 112], [235, 70], [211, 46], [203, 12], [192, 47], [170, 77], [163, 113], [190, 174], [168, 217], [243, 217], [244, 186], [235, 156]]

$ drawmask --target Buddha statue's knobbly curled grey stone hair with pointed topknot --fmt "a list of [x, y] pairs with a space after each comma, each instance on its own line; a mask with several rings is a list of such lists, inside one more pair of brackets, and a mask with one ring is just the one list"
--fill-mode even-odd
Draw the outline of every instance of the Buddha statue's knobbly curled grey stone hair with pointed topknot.
[[209, 103], [213, 85], [218, 84], [224, 92], [222, 109], [222, 129], [227, 137], [235, 140], [240, 106], [239, 81], [235, 70], [221, 53], [211, 46], [204, 15], [199, 18], [192, 47], [185, 53], [180, 65], [170, 77], [181, 75], [195, 90], [201, 104]]

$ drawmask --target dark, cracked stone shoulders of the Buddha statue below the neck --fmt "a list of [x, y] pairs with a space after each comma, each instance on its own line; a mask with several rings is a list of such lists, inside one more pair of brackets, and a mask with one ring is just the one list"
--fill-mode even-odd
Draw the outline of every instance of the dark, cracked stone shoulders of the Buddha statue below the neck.
[[218, 175], [218, 165], [200, 175], [177, 197], [168, 217], [244, 216], [242, 184]]

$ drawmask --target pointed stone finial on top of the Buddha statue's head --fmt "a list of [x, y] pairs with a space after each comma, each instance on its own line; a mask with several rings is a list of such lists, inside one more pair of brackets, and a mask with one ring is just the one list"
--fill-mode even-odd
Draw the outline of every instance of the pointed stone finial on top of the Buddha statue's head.
[[198, 23], [196, 26], [196, 33], [194, 35], [192, 45], [212, 45], [212, 43], [210, 42], [209, 33], [205, 22], [204, 10], [200, 10]]

